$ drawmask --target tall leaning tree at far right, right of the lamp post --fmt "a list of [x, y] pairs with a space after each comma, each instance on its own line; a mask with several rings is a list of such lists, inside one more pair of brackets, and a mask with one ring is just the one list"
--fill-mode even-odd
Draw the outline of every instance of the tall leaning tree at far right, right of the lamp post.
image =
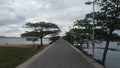
[[114, 31], [120, 29], [120, 1], [100, 0], [100, 2], [102, 2], [100, 4], [101, 11], [98, 13], [97, 23], [102, 24], [102, 28], [107, 32], [106, 46], [102, 58], [102, 63], [105, 64], [109, 42], [113, 39]]

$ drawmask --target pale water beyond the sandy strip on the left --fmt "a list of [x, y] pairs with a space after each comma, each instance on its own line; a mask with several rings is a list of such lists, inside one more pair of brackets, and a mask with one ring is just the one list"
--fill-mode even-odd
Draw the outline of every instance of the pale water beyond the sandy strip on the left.
[[[25, 38], [0, 38], [0, 44], [32, 44], [31, 41], [26, 41]], [[40, 43], [40, 40], [35, 42], [36, 44]], [[49, 39], [43, 39], [43, 44], [49, 44]]]

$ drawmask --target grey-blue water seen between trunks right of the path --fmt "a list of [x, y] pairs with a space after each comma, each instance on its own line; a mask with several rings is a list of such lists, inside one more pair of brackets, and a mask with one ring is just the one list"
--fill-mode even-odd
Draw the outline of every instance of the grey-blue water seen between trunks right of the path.
[[[110, 42], [109, 49], [106, 58], [106, 68], [120, 68], [120, 45], [118, 42]], [[105, 41], [101, 43], [95, 43], [95, 56], [94, 58], [102, 60], [103, 52], [105, 48]], [[92, 54], [92, 45], [87, 49], [84, 49], [88, 54]]]

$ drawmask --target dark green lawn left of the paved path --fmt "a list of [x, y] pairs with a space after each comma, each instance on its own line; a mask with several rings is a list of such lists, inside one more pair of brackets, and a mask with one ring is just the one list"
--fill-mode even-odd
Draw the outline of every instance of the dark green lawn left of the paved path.
[[0, 68], [15, 68], [42, 49], [0, 47]]

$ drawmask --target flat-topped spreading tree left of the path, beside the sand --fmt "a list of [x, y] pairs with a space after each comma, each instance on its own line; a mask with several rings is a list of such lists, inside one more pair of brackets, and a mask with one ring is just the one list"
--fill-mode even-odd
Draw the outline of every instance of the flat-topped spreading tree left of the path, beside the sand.
[[42, 39], [44, 36], [60, 32], [59, 27], [56, 24], [50, 22], [28, 22], [25, 25], [26, 28], [31, 28], [32, 31], [23, 33], [22, 35], [26, 36], [27, 38], [40, 38], [41, 46], [43, 46]]

